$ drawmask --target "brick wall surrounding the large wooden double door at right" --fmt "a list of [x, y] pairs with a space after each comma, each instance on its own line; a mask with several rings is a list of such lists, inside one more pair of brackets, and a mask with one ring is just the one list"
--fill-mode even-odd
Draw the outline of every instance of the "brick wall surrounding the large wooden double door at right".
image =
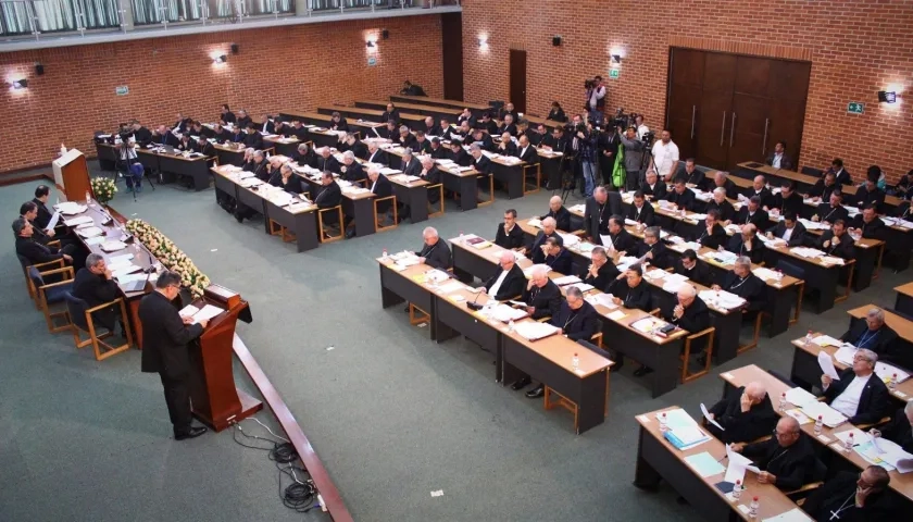
[[[552, 47], [553, 35], [561, 47]], [[579, 111], [584, 78], [601, 74], [606, 110], [624, 107], [661, 126], [668, 47], [683, 37], [701, 37], [709, 50], [811, 60], [800, 165], [840, 157], [854, 176], [877, 163], [889, 178], [913, 169], [913, 92], [895, 105], [876, 97], [913, 86], [909, 0], [464, 0], [465, 98], [506, 100], [509, 50], [522, 49], [527, 112], [545, 116], [552, 100]], [[615, 48], [625, 58], [620, 78], [609, 79]], [[847, 114], [849, 101], [865, 102], [865, 114]]]

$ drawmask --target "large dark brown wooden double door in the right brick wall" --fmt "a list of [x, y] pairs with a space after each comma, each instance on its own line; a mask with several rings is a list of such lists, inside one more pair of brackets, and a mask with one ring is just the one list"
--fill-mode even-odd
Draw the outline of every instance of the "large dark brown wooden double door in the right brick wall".
[[670, 49], [666, 125], [681, 159], [731, 171], [777, 141], [797, 161], [811, 62]]

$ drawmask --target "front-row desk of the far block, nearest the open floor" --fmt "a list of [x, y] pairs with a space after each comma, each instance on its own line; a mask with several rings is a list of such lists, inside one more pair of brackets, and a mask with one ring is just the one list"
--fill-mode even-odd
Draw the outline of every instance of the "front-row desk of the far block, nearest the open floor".
[[317, 248], [320, 241], [317, 239], [316, 206], [296, 204], [292, 210], [289, 210], [287, 207], [279, 207], [267, 200], [259, 191], [241, 186], [238, 181], [228, 175], [229, 169], [227, 165], [213, 167], [212, 172], [215, 179], [216, 200], [220, 199], [221, 192], [263, 214], [266, 234], [273, 235], [270, 226], [271, 220], [284, 226], [293, 235], [299, 252]]

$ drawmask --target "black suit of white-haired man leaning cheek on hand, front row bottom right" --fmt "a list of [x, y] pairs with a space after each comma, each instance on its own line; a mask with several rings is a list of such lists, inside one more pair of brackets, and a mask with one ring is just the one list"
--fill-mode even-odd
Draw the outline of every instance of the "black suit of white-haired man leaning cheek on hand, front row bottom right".
[[706, 430], [726, 444], [750, 443], [755, 438], [770, 435], [779, 420], [779, 415], [771, 403], [770, 395], [764, 395], [764, 400], [742, 412], [742, 394], [745, 394], [745, 386], [729, 391], [728, 397], [723, 398], [709, 410], [713, 413], [713, 420], [725, 431], [710, 423], [705, 426]]

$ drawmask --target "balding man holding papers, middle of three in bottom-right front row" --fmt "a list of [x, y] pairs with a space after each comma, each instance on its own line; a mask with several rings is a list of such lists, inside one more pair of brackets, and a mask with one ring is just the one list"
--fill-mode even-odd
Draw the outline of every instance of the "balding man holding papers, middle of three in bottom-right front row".
[[815, 448], [802, 434], [799, 421], [791, 417], [780, 418], [770, 439], [734, 444], [731, 449], [764, 470], [758, 475], [758, 482], [762, 484], [774, 484], [781, 490], [791, 492], [814, 480]]

